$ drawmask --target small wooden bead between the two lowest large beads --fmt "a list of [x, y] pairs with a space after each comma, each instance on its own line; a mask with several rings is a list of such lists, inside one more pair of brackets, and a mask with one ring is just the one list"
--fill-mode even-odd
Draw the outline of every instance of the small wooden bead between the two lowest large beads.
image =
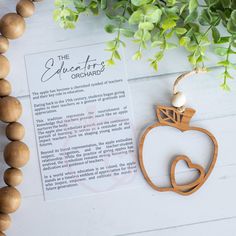
[[23, 180], [23, 173], [20, 169], [9, 168], [4, 172], [4, 182], [8, 186], [15, 187], [19, 185]]

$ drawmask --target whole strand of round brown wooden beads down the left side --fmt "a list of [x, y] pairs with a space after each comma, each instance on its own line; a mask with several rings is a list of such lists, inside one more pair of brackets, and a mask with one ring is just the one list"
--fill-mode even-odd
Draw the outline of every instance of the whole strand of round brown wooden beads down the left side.
[[4, 172], [5, 187], [0, 189], [0, 236], [5, 236], [11, 225], [10, 213], [15, 212], [21, 203], [21, 194], [16, 189], [22, 180], [23, 173], [19, 169], [25, 166], [30, 157], [28, 146], [21, 140], [25, 129], [18, 119], [22, 114], [20, 101], [10, 96], [11, 84], [6, 77], [10, 72], [10, 62], [2, 55], [9, 48], [9, 39], [17, 39], [25, 31], [24, 18], [34, 14], [34, 2], [41, 0], [20, 0], [15, 13], [8, 13], [0, 20], [0, 120], [7, 123], [6, 136], [10, 140], [4, 149], [4, 160], [9, 166]]

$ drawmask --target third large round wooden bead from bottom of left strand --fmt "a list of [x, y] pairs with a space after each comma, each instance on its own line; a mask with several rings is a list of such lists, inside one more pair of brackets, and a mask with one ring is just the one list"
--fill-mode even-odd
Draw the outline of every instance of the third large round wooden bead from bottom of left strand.
[[17, 121], [22, 113], [20, 101], [14, 97], [0, 98], [0, 120], [3, 122]]

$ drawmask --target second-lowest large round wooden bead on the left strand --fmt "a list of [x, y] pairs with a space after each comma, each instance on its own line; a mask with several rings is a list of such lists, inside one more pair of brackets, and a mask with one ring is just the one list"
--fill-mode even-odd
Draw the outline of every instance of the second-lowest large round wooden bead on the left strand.
[[15, 168], [23, 167], [29, 161], [29, 148], [21, 141], [8, 143], [4, 149], [5, 162]]

